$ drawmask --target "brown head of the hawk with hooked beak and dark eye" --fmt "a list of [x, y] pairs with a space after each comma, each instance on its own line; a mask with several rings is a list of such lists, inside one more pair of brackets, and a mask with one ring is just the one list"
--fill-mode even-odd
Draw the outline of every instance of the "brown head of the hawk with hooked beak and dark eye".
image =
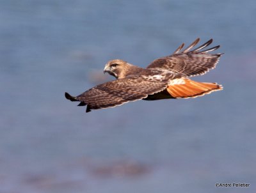
[[114, 59], [106, 63], [103, 72], [108, 72], [110, 75], [116, 77], [116, 79], [122, 79], [125, 77], [125, 72], [127, 72], [131, 66], [132, 65], [122, 59]]

